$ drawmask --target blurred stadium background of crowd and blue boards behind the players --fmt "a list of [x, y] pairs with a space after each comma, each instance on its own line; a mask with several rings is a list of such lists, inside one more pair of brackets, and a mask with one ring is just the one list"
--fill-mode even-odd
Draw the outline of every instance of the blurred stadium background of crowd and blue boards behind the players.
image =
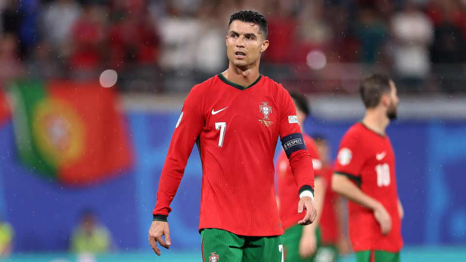
[[[0, 98], [21, 88], [11, 84], [17, 79], [102, 89], [101, 73], [113, 69], [112, 101], [133, 159], [131, 167], [85, 185], [44, 179], [20, 160], [10, 117], [17, 108], [1, 100], [0, 216], [15, 231], [5, 261], [200, 261], [197, 150], [172, 203], [173, 245], [162, 257], [151, 254], [147, 231], [183, 99], [226, 68], [228, 18], [243, 8], [269, 21], [261, 73], [307, 94], [313, 114], [306, 131], [325, 134], [333, 158], [344, 131], [364, 113], [355, 94], [359, 79], [373, 71], [393, 76], [400, 108], [388, 134], [405, 209], [403, 261], [466, 261], [465, 1], [4, 0], [0, 79], [7, 95]], [[95, 112], [111, 125], [104, 111]], [[68, 254], [84, 208], [110, 230], [109, 254]]]

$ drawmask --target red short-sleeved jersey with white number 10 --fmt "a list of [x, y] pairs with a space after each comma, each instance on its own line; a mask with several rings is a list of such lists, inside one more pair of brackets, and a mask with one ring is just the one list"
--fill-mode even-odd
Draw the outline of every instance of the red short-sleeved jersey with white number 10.
[[362, 122], [354, 124], [341, 141], [335, 173], [349, 177], [366, 195], [381, 202], [392, 221], [391, 231], [383, 235], [370, 209], [348, 201], [350, 240], [354, 251], [398, 252], [403, 242], [395, 153], [388, 136], [370, 130]]

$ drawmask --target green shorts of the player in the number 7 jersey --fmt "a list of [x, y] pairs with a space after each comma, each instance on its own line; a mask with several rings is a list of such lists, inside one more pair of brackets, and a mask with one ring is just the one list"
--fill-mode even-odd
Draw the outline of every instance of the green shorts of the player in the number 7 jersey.
[[222, 229], [202, 229], [203, 262], [283, 262], [282, 236], [240, 236]]

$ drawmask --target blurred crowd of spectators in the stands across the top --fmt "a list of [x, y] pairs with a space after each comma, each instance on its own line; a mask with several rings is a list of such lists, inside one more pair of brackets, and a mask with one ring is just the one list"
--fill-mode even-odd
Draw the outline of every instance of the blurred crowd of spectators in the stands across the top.
[[464, 90], [465, 0], [2, 0], [0, 81], [114, 69], [125, 91], [185, 92], [227, 67], [240, 9], [268, 20], [262, 73], [302, 91], [374, 70], [407, 92]]

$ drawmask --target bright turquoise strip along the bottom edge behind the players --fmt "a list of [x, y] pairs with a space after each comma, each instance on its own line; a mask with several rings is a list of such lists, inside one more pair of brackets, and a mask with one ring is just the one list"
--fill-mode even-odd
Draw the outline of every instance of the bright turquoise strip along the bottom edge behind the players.
[[[154, 253], [112, 253], [105, 255], [76, 256], [71, 254], [15, 254], [8, 262], [201, 262], [200, 252], [166, 251], [157, 257]], [[354, 262], [346, 256], [341, 262]], [[466, 262], [466, 246], [458, 247], [406, 247], [401, 252], [401, 262]]]

